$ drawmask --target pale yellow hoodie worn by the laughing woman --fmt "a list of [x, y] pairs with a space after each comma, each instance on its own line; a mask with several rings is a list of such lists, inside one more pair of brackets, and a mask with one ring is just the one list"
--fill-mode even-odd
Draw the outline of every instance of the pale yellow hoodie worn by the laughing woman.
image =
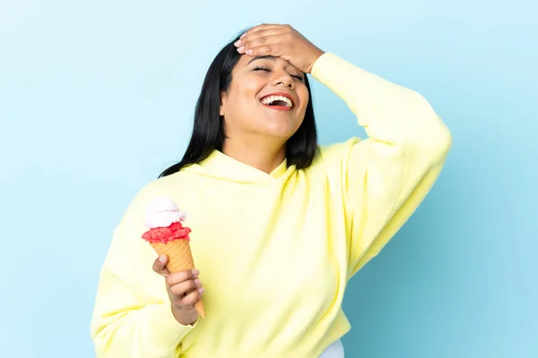
[[[156, 180], [114, 232], [91, 322], [98, 357], [317, 357], [350, 329], [348, 280], [390, 240], [435, 182], [451, 136], [417, 92], [322, 55], [312, 76], [369, 138], [320, 147], [312, 166], [271, 174], [219, 151]], [[174, 320], [144, 210], [168, 196], [188, 213], [207, 317]]]

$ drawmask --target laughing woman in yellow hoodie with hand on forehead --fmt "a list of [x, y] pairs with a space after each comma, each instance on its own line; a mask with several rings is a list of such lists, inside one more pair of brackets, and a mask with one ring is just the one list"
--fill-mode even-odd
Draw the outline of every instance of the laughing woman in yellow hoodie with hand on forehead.
[[[306, 73], [369, 139], [317, 146]], [[117, 226], [91, 325], [97, 355], [342, 357], [346, 283], [412, 215], [450, 144], [420, 94], [288, 25], [248, 30], [209, 68], [183, 160]], [[195, 270], [169, 274], [140, 238], [157, 196], [188, 212]]]

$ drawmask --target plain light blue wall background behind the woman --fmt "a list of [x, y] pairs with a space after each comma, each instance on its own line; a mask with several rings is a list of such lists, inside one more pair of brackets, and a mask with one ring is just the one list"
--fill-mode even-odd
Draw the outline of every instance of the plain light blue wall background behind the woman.
[[[346, 357], [538, 357], [533, 3], [2, 0], [0, 355], [94, 355], [114, 226], [186, 148], [213, 56], [276, 22], [421, 92], [454, 135], [421, 208], [351, 280]], [[363, 135], [313, 92], [322, 142]]]

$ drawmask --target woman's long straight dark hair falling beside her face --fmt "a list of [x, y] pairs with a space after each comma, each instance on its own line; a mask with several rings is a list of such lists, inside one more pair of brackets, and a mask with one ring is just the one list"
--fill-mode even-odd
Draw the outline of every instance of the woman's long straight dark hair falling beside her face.
[[[214, 149], [222, 150], [225, 133], [224, 118], [220, 115], [221, 91], [229, 89], [231, 71], [241, 56], [233, 45], [238, 39], [239, 36], [223, 47], [209, 66], [202, 85], [202, 92], [196, 102], [193, 133], [185, 155], [178, 164], [164, 170], [159, 177], [172, 175], [186, 166], [203, 161], [209, 157]], [[298, 169], [310, 166], [317, 151], [316, 121], [307, 76], [305, 76], [305, 85], [310, 97], [305, 118], [297, 132], [286, 143], [288, 166], [295, 165]]]

